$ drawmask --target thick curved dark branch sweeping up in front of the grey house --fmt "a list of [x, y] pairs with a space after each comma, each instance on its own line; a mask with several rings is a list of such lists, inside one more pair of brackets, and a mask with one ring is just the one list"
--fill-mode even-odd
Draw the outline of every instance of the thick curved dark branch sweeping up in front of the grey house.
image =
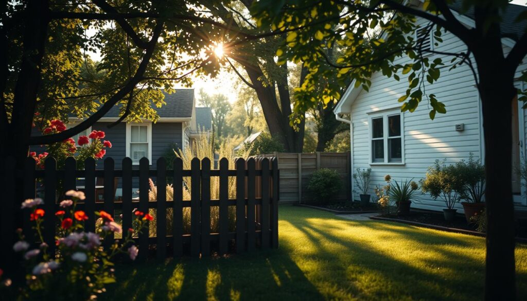
[[63, 132], [51, 134], [51, 135], [43, 135], [38, 137], [31, 137], [30, 138], [30, 145], [38, 145], [38, 144], [50, 144], [58, 141], [65, 140], [67, 138], [72, 137], [75, 134], [80, 133], [83, 130], [86, 130], [87, 128], [91, 127], [97, 120], [101, 119], [104, 114], [108, 113], [110, 109], [121, 99], [126, 96], [126, 94], [130, 93], [132, 89], [135, 87], [137, 83], [139, 83], [142, 80], [144, 72], [147, 70], [148, 64], [150, 62], [150, 59], [154, 53], [155, 45], [157, 45], [158, 38], [161, 35], [161, 32], [163, 30], [163, 22], [159, 22], [157, 25], [155, 25], [155, 28], [152, 33], [152, 39], [149, 42], [149, 45], [147, 49], [145, 50], [145, 54], [143, 56], [143, 59], [141, 63], [139, 64], [139, 67], [137, 71], [135, 72], [132, 79], [126, 83], [126, 85], [113, 94], [113, 96], [101, 107], [101, 109], [95, 113], [93, 113], [89, 118], [84, 120], [83, 122], [79, 123], [75, 127], [71, 129], [67, 129]]

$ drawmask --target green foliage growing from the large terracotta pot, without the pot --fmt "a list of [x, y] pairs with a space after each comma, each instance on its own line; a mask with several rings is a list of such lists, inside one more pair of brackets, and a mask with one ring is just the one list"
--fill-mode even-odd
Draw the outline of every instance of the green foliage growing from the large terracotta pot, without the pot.
[[461, 160], [455, 164], [464, 185], [461, 199], [476, 203], [482, 201], [485, 195], [485, 166], [480, 162], [480, 159], [474, 160], [474, 154], [470, 153], [469, 161]]

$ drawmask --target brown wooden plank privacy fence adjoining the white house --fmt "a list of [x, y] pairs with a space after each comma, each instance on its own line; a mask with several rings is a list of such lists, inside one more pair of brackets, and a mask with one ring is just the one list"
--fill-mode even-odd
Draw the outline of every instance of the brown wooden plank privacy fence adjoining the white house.
[[336, 170], [343, 181], [335, 200], [351, 200], [351, 157], [350, 152], [315, 152], [262, 154], [259, 157], [277, 158], [280, 170], [280, 201], [313, 201], [307, 190], [309, 177], [321, 168]]

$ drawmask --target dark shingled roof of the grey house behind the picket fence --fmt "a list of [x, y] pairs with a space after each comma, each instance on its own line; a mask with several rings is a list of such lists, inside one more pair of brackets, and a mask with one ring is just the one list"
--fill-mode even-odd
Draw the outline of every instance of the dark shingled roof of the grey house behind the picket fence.
[[[194, 89], [175, 89], [175, 92], [165, 95], [164, 101], [167, 103], [161, 108], [156, 108], [152, 103], [151, 107], [158, 112], [160, 118], [191, 118], [192, 106], [194, 105]], [[119, 117], [121, 104], [114, 105], [104, 117]]]

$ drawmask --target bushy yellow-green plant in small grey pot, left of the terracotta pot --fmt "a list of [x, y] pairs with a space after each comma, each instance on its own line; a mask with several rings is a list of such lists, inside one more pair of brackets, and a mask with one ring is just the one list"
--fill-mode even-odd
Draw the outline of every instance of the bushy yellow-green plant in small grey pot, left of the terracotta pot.
[[454, 206], [464, 193], [463, 180], [455, 166], [446, 166], [445, 160], [442, 163], [436, 160], [433, 166], [428, 167], [426, 177], [421, 180], [421, 190], [423, 193], [430, 193], [434, 199], [441, 197], [446, 204], [446, 209], [443, 209], [445, 220], [454, 219], [457, 212]]

